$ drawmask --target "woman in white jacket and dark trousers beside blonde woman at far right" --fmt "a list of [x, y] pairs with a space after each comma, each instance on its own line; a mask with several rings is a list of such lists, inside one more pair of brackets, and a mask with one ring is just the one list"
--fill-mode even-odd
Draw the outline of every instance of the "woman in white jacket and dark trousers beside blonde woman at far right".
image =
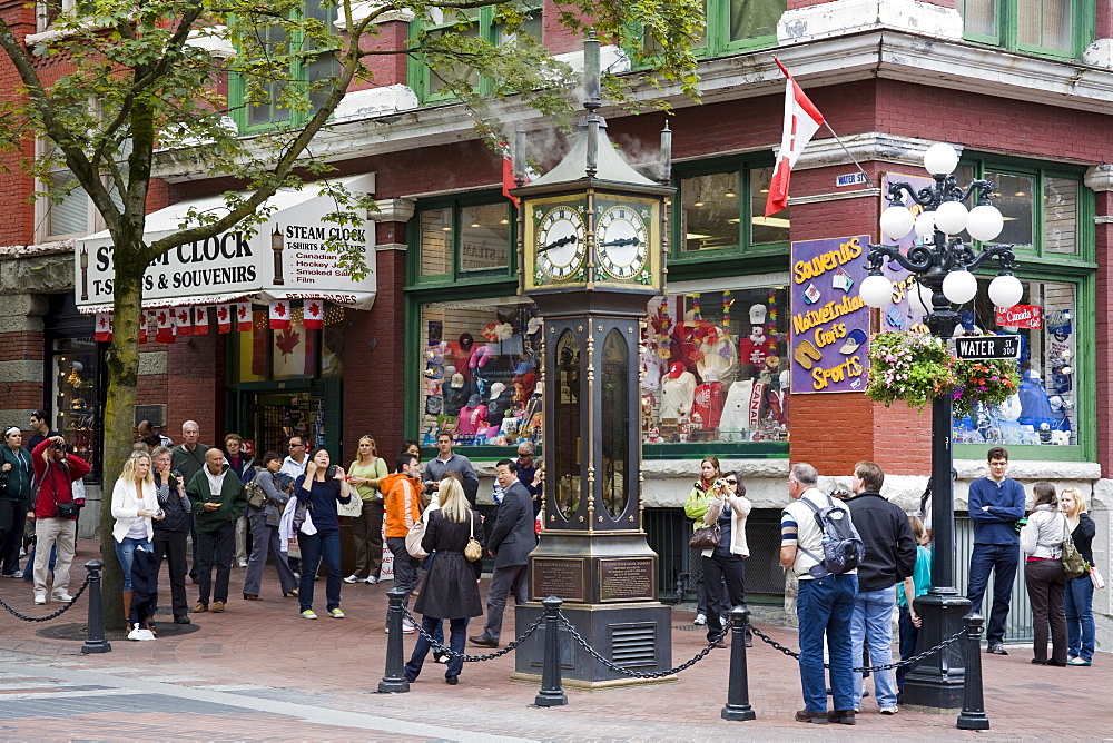
[[[1032, 605], [1032, 662], [1036, 665], [1066, 665], [1066, 611], [1063, 588], [1066, 572], [1060, 557], [1063, 541], [1071, 535], [1066, 516], [1058, 509], [1055, 486], [1036, 483], [1032, 487], [1035, 507], [1021, 529], [1021, 549], [1026, 556], [1024, 583]], [[1052, 654], [1047, 660], [1047, 625], [1051, 624]]]

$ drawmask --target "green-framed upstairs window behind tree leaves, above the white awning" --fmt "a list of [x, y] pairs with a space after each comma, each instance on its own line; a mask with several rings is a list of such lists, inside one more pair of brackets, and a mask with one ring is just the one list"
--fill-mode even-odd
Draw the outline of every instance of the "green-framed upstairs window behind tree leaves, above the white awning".
[[[337, 19], [337, 8], [334, 3], [325, 0], [306, 0], [302, 18], [319, 19], [326, 28], [332, 29]], [[268, 42], [272, 44], [285, 44], [287, 38], [280, 27], [269, 27], [260, 29], [260, 33], [272, 37]], [[247, 82], [239, 72], [232, 72], [228, 76], [228, 108], [232, 120], [243, 135], [259, 133], [282, 127], [303, 126], [313, 116], [313, 112], [324, 102], [324, 92], [309, 91], [311, 109], [307, 111], [294, 111], [279, 106], [279, 90], [284, 85], [302, 86], [309, 88], [312, 85], [327, 80], [339, 73], [339, 60], [336, 58], [336, 48], [314, 48], [313, 40], [306, 39], [304, 33], [295, 32], [289, 36], [290, 49], [304, 49], [306, 52], [316, 52], [313, 59], [305, 61], [294, 60], [289, 67], [288, 82], [275, 80], [267, 82], [265, 89], [269, 96], [265, 102], [258, 106], [246, 100]]]

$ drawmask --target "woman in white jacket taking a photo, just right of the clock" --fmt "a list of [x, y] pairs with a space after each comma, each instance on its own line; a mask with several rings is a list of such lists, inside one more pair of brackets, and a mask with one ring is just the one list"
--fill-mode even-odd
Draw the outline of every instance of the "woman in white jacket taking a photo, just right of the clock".
[[[708, 591], [707, 638], [715, 640], [722, 631], [722, 618], [735, 606], [746, 605], [746, 563], [750, 548], [746, 544], [746, 518], [750, 515], [754, 504], [746, 497], [746, 485], [737, 472], [729, 472], [722, 478], [715, 481], [709, 491], [707, 513], [703, 523], [708, 526], [719, 525], [719, 545], [715, 549], [705, 549], [703, 583], [718, 586], [726, 581], [730, 605], [722, 605], [720, 591]], [[726, 647], [721, 640], [716, 647]], [[752, 640], [747, 628], [746, 646], [752, 647]]]

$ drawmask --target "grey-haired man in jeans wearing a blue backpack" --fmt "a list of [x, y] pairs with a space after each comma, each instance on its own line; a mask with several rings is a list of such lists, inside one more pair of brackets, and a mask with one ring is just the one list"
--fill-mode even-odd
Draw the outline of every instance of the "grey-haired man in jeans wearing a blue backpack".
[[[800, 626], [800, 685], [804, 710], [797, 722], [818, 725], [855, 724], [854, 674], [850, 662], [850, 618], [858, 594], [857, 565], [863, 547], [841, 501], [824, 495], [819, 474], [809, 464], [792, 465], [788, 494], [792, 502], [780, 518], [780, 564], [799, 581], [796, 616]], [[830, 657], [830, 688], [835, 710], [827, 712], [824, 678], [824, 636]]]

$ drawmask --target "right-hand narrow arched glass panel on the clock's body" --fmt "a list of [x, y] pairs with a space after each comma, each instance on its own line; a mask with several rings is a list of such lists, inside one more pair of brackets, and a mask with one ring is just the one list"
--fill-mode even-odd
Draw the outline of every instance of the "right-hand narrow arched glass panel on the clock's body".
[[[631, 336], [632, 338], [632, 336]], [[626, 511], [629, 497], [627, 462], [630, 454], [630, 396], [628, 361], [630, 351], [622, 333], [607, 334], [602, 357], [602, 494], [603, 507], [612, 518]]]

